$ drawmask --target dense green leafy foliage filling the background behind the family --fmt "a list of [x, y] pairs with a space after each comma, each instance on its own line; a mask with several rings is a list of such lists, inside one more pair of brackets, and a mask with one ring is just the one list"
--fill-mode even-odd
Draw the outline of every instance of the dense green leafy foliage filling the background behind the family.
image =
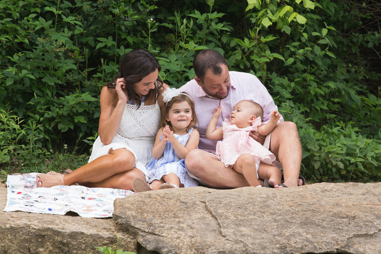
[[381, 180], [381, 3], [3, 0], [0, 7], [1, 167], [55, 157], [50, 150], [64, 156], [64, 144], [88, 151], [100, 90], [132, 49], [151, 51], [161, 78], [180, 87], [194, 77], [194, 56], [212, 48], [231, 70], [260, 78], [297, 124], [307, 179]]

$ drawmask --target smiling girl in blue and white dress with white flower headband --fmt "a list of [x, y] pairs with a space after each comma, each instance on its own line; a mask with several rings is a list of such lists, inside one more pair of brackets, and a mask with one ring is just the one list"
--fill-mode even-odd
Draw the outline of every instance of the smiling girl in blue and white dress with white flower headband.
[[163, 97], [165, 110], [161, 128], [152, 149], [153, 159], [146, 166], [151, 185], [134, 178], [135, 192], [197, 186], [184, 164], [188, 152], [196, 149], [199, 141], [198, 131], [194, 129], [198, 124], [194, 103], [191, 96], [175, 88], [167, 88]]

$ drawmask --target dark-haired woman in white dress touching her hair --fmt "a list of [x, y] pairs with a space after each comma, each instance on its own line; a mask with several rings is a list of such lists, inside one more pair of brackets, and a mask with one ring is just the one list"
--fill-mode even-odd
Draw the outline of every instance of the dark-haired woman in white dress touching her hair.
[[[135, 177], [148, 178], [155, 135], [160, 127], [161, 93], [156, 58], [146, 50], [127, 53], [113, 84], [102, 88], [99, 136], [89, 163], [70, 174], [38, 174], [37, 187], [72, 185], [132, 190]], [[113, 88], [115, 86], [115, 89]]]

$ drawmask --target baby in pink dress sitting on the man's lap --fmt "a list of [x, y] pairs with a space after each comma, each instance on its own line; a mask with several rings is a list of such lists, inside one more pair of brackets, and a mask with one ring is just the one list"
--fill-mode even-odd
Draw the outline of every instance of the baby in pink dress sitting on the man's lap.
[[216, 129], [220, 114], [221, 106], [216, 112], [213, 111], [212, 119], [206, 129], [207, 138], [223, 138], [217, 142], [216, 157], [225, 164], [225, 167], [230, 166], [236, 172], [243, 174], [250, 186], [261, 187], [258, 177], [265, 180], [265, 185], [269, 185], [269, 182], [280, 183], [282, 173], [275, 167], [279, 165], [275, 155], [249, 137], [249, 132], [253, 130], [262, 135], [270, 133], [280, 118], [279, 112], [274, 110], [271, 113], [271, 120], [267, 124], [262, 124], [262, 107], [255, 102], [243, 100], [234, 106], [230, 122], [225, 119], [222, 126]]

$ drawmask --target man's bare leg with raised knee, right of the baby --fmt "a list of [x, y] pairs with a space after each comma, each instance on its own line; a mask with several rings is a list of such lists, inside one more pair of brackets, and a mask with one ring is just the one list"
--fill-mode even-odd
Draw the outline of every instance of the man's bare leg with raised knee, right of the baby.
[[[298, 130], [292, 122], [281, 122], [271, 132], [269, 149], [283, 167], [284, 185], [288, 187], [301, 185], [298, 181], [302, 163], [302, 145]], [[275, 185], [274, 188], [281, 188]]]

